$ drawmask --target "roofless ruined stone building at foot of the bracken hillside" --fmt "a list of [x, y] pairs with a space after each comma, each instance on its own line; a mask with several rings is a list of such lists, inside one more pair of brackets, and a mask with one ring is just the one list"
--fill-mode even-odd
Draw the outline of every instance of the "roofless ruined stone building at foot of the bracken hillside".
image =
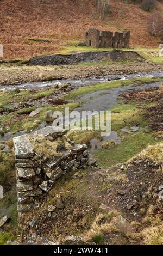
[[95, 48], [129, 48], [130, 31], [110, 32], [90, 28], [85, 34], [87, 46]]

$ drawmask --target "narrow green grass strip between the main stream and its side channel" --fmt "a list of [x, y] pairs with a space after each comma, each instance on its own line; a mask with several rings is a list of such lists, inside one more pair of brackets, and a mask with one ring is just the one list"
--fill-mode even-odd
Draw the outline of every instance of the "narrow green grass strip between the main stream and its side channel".
[[139, 85], [143, 83], [156, 82], [156, 81], [163, 81], [163, 79], [143, 77], [143, 78], [134, 78], [127, 81], [118, 80], [118, 81], [112, 81], [109, 83], [98, 83], [90, 86], [80, 87], [76, 91], [68, 94], [65, 97], [65, 99], [66, 100], [76, 99], [77, 97], [82, 96], [83, 94], [86, 94], [86, 93], [97, 92], [98, 90], [112, 89], [112, 88], [117, 88], [122, 86], [129, 86], [130, 84], [133, 84], [133, 83]]

